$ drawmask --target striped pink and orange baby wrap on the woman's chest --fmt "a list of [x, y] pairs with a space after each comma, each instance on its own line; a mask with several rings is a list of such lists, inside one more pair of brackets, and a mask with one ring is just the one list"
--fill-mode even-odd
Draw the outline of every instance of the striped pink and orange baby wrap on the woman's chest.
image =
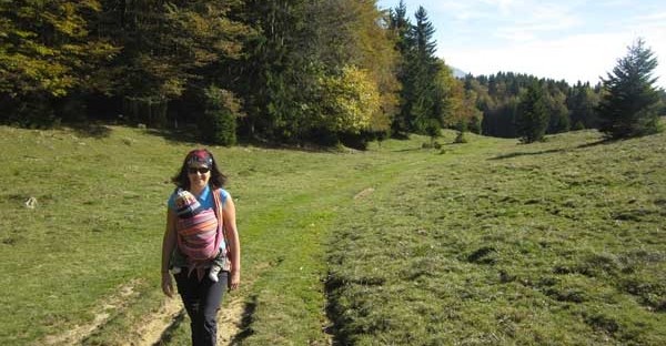
[[[214, 207], [205, 210], [189, 218], [179, 218], [176, 222], [178, 248], [188, 258], [188, 275], [196, 271], [199, 281], [203, 278], [205, 267], [211, 260], [222, 251], [226, 257], [226, 242], [224, 242], [224, 222], [222, 220], [222, 201], [220, 190], [212, 191]], [[224, 242], [225, 247], [220, 250]], [[230, 265], [225, 261], [222, 269], [228, 271]]]

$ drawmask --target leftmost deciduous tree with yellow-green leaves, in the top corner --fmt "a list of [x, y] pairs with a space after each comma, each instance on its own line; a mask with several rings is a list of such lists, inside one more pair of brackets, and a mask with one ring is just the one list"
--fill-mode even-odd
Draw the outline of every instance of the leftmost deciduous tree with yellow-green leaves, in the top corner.
[[0, 1], [0, 106], [6, 122], [51, 125], [53, 103], [100, 85], [100, 64], [118, 51], [98, 34], [98, 0]]

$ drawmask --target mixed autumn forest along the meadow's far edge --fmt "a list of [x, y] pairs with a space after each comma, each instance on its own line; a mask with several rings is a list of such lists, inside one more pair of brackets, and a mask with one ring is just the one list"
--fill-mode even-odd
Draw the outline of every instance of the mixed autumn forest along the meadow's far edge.
[[[441, 129], [518, 136], [536, 78], [453, 77], [401, 0], [0, 1], [2, 123], [127, 121], [200, 140], [344, 143]], [[546, 132], [599, 126], [604, 88], [537, 80]]]

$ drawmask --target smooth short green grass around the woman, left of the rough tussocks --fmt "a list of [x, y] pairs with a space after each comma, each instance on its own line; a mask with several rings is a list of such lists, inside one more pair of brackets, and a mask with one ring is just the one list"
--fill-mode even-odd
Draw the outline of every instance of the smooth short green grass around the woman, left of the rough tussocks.
[[[0, 130], [7, 163], [0, 166], [0, 255], [7, 260], [0, 266], [10, 273], [0, 278], [0, 299], [17, 312], [0, 316], [0, 339], [23, 345], [79, 330], [85, 345], [139, 340], [143, 329], [137, 326], [163, 308], [155, 268], [168, 181], [199, 144], [125, 128], [101, 136]], [[386, 151], [401, 150], [396, 144]], [[326, 344], [327, 234], [342, 207], [390, 179], [400, 163], [372, 152], [213, 152], [231, 177], [243, 237], [245, 285], [224, 303], [242, 302], [238, 339]], [[37, 201], [34, 208], [24, 207], [28, 199]], [[130, 282], [134, 294], [119, 308], [104, 308]], [[163, 343], [186, 344], [186, 318], [171, 324]]]

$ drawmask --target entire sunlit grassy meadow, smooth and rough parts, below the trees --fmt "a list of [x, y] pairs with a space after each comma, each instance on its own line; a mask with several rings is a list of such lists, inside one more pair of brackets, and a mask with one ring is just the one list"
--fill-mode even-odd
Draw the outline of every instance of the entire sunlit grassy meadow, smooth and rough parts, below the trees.
[[[243, 247], [234, 340], [666, 344], [666, 134], [599, 140], [211, 147]], [[163, 303], [170, 177], [201, 144], [122, 126], [0, 126], [0, 344], [100, 315], [83, 345], [132, 343]], [[162, 344], [188, 333], [184, 318]]]

